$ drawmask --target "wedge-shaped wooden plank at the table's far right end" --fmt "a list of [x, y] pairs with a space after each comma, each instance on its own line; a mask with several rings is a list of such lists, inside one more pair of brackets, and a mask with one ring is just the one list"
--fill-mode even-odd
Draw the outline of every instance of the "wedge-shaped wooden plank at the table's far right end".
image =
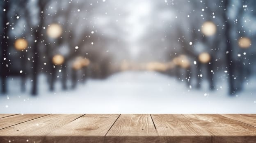
[[221, 114], [221, 115], [256, 127], [256, 114]]

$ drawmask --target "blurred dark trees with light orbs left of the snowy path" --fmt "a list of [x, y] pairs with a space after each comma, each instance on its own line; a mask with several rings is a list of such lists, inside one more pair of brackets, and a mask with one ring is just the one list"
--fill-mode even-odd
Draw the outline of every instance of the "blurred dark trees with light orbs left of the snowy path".
[[[79, 22], [82, 13], [78, 16], [78, 9], [87, 9], [86, 19], [93, 12], [89, 2], [92, 1], [82, 5], [54, 0], [1, 2], [4, 9], [1, 13], [3, 93], [7, 92], [7, 78], [10, 76], [21, 77], [23, 91], [26, 78], [31, 78], [31, 94], [36, 95], [41, 73], [48, 77], [50, 90], [54, 90], [58, 71], [61, 71], [63, 89], [67, 89], [69, 77], [73, 88], [78, 76], [85, 80], [89, 69], [91, 76], [96, 78], [105, 78], [109, 74], [107, 65], [111, 54], [100, 50], [103, 50], [101, 43], [107, 47], [111, 37], [101, 36], [97, 31], [90, 30], [91, 24], [85, 18]], [[56, 9], [51, 10], [51, 7]]]

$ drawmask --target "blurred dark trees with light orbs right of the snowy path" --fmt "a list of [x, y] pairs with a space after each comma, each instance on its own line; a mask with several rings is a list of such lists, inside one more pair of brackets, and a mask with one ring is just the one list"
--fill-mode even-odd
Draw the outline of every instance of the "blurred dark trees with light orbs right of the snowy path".
[[[177, 5], [186, 5], [184, 1], [176, 2]], [[187, 11], [185, 8], [180, 11], [178, 24], [182, 23], [182, 26], [177, 26], [175, 32], [179, 45], [174, 45], [174, 50], [168, 55], [170, 60], [186, 55], [175, 69], [177, 76], [180, 77], [181, 68], [185, 69], [188, 85], [195, 77], [195, 87], [200, 88], [201, 78], [206, 75], [209, 89], [215, 89], [218, 74], [224, 74], [226, 78], [220, 80], [227, 80], [229, 94], [236, 94], [255, 70], [252, 64], [255, 61], [253, 43], [256, 31], [246, 21], [256, 20], [253, 7], [256, 3], [247, 0], [190, 3]]]

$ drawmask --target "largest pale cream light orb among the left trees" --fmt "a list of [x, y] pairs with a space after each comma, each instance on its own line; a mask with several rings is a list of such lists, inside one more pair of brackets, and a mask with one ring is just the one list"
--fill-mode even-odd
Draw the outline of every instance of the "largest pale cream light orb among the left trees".
[[58, 24], [53, 23], [47, 27], [46, 33], [50, 38], [58, 38], [62, 34], [62, 28]]

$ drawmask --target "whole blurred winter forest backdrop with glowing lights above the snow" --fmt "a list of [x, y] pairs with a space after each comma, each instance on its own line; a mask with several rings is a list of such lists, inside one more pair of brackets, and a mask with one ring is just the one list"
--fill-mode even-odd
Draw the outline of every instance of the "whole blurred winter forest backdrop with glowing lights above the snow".
[[256, 0], [1, 0], [0, 27], [3, 95], [154, 71], [232, 96], [256, 72]]

